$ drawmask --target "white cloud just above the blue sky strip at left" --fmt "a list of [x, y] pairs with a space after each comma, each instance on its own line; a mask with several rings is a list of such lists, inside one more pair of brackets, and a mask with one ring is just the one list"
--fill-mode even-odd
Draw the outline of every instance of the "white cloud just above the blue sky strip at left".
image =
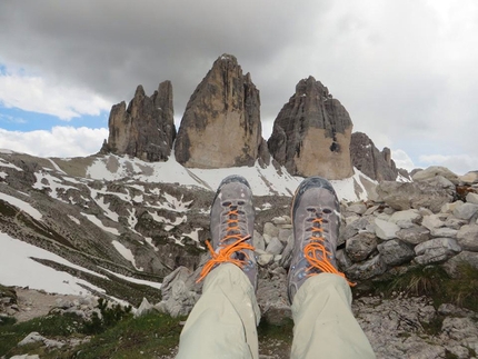
[[0, 74], [0, 102], [8, 108], [52, 114], [62, 120], [82, 114], [98, 116], [111, 109], [109, 101], [91, 91], [53, 83], [18, 70]]

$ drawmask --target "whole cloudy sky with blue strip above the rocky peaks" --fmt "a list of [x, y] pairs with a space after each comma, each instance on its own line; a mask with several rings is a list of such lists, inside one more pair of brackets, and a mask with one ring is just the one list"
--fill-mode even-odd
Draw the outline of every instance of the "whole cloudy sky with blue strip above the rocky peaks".
[[260, 91], [265, 139], [313, 76], [398, 167], [478, 170], [476, 0], [3, 0], [0, 148], [96, 153], [111, 106], [165, 80], [178, 128], [222, 53]]

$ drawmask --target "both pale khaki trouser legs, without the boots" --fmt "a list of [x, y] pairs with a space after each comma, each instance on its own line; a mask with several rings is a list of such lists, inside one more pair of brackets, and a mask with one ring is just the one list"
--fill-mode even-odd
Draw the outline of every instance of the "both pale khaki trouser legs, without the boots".
[[[350, 305], [343, 278], [321, 273], [308, 279], [293, 299], [291, 358], [375, 358]], [[258, 359], [259, 319], [249, 279], [235, 265], [221, 265], [205, 280], [182, 329], [177, 358]]]

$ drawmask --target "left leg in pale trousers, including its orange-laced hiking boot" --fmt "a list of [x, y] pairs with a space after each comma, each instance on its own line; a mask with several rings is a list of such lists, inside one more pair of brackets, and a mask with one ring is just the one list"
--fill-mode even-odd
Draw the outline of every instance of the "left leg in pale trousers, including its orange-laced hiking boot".
[[206, 278], [202, 296], [182, 329], [177, 358], [259, 357], [253, 220], [249, 183], [227, 177], [211, 207], [211, 259], [199, 278]]

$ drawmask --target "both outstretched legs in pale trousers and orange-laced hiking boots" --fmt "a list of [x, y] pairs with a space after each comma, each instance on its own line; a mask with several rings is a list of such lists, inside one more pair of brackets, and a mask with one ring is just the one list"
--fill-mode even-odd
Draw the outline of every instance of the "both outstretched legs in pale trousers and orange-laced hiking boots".
[[[328, 181], [316, 177], [299, 186], [288, 276], [295, 321], [291, 358], [375, 358], [351, 312], [349, 283], [337, 270], [339, 216]], [[253, 217], [248, 182], [226, 178], [211, 208], [211, 260], [201, 272], [202, 296], [181, 332], [177, 358], [259, 358]]]

